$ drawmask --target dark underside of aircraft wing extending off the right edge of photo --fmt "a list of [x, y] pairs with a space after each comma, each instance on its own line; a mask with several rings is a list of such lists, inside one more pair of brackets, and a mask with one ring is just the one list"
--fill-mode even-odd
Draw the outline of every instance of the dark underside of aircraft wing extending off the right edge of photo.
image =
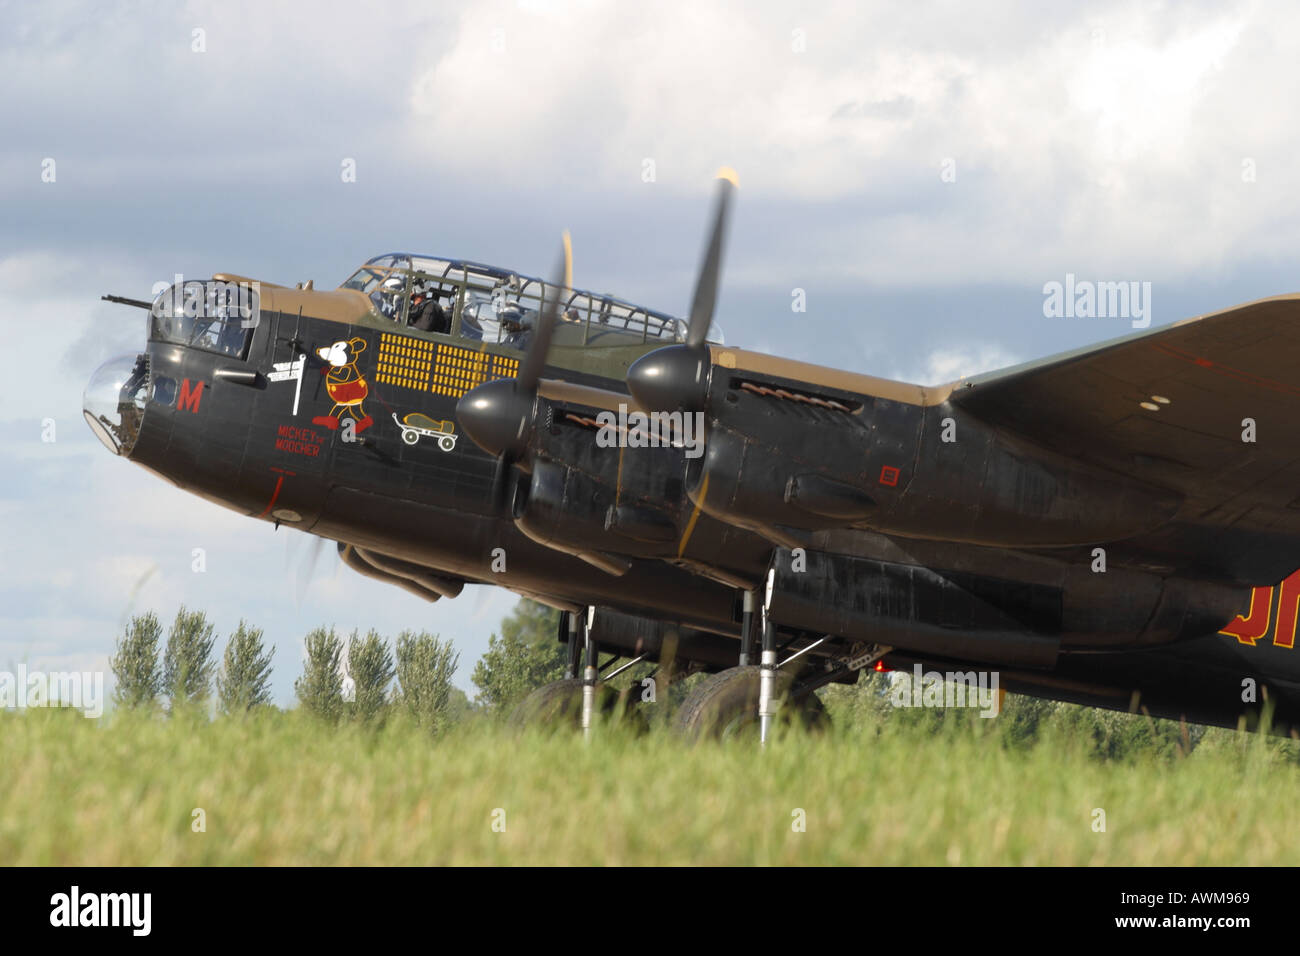
[[1300, 533], [1300, 294], [952, 388], [989, 425], [1175, 489], [1182, 522]]

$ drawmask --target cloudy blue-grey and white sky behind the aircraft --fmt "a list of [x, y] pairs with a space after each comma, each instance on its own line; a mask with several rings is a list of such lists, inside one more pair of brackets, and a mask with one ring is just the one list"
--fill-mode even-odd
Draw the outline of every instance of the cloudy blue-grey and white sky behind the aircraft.
[[1153, 325], [1300, 287], [1294, 5], [0, 0], [0, 669], [104, 667], [130, 614], [183, 602], [222, 635], [266, 630], [283, 704], [321, 623], [439, 632], [472, 689], [514, 604], [422, 604], [108, 455], [82, 388], [143, 323], [103, 293], [177, 272], [330, 286], [393, 250], [545, 272], [568, 228], [578, 285], [681, 313], [723, 164], [741, 191], [719, 324], [742, 347], [928, 384], [1130, 330], [1046, 317], [1067, 273], [1149, 281]]

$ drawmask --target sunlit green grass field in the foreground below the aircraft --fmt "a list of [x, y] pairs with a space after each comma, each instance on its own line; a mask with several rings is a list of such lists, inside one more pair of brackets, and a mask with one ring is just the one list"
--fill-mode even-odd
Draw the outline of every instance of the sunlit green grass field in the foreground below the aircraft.
[[296, 713], [0, 714], [0, 861], [1300, 862], [1288, 741], [1222, 731], [1186, 757], [1102, 758], [1067, 730], [1008, 747], [1001, 719], [859, 719], [758, 752], [488, 721], [430, 740]]

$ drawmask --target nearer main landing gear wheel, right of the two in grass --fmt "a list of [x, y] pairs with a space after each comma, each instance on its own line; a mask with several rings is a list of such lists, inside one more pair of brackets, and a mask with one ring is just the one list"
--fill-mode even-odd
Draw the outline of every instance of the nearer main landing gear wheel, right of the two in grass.
[[[754, 665], [731, 667], [714, 674], [693, 689], [673, 718], [673, 728], [690, 740], [758, 739], [759, 671]], [[789, 674], [776, 672], [776, 695], [784, 697], [793, 683]], [[776, 711], [777, 724], [794, 724], [805, 730], [829, 726], [826, 708], [815, 693], [801, 701], [781, 700]]]

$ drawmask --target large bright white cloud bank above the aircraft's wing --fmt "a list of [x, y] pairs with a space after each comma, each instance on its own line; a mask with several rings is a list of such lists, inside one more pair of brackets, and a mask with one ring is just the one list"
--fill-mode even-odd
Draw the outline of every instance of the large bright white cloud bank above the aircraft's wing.
[[702, 195], [729, 163], [758, 202], [850, 202], [792, 224], [841, 280], [1160, 278], [1300, 238], [1265, 228], [1300, 200], [1279, 112], [1297, 26], [1258, 5], [484, 3], [413, 82], [411, 130], [439, 168], [540, 190]]

